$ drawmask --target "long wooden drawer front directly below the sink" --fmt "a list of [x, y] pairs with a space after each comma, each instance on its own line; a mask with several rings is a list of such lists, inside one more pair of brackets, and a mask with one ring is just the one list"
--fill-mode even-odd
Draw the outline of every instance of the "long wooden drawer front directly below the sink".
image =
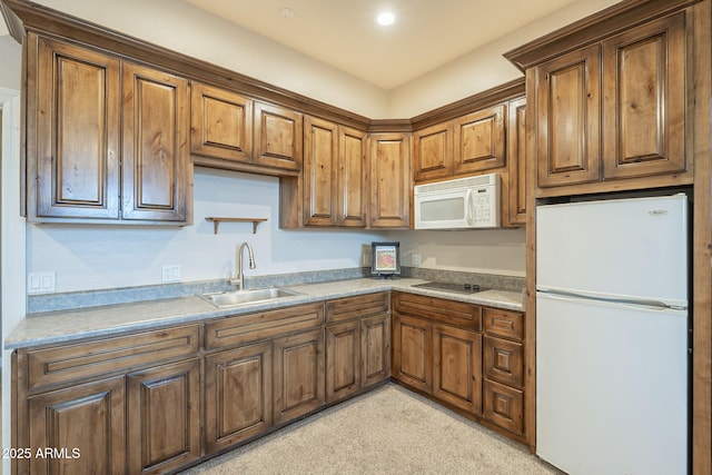
[[237, 346], [276, 335], [313, 328], [324, 323], [324, 305], [309, 304], [279, 310], [238, 315], [205, 326], [206, 349]]

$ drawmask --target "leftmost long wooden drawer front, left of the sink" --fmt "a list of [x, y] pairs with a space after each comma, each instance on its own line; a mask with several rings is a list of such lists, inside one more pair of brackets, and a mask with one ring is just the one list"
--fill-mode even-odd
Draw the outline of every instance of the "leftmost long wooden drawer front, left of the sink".
[[29, 350], [28, 389], [155, 365], [198, 353], [199, 326]]

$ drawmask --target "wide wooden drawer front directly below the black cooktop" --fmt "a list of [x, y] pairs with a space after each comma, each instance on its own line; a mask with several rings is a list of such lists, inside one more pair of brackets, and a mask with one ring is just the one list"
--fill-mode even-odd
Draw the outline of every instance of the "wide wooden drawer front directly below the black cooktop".
[[482, 330], [482, 307], [424, 295], [406, 293], [394, 295], [394, 309], [399, 314], [458, 325], [475, 331]]

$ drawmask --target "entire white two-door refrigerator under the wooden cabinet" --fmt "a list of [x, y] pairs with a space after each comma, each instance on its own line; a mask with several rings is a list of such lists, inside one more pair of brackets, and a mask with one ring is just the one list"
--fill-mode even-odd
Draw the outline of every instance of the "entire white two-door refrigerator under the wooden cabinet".
[[536, 208], [536, 453], [688, 473], [688, 199]]

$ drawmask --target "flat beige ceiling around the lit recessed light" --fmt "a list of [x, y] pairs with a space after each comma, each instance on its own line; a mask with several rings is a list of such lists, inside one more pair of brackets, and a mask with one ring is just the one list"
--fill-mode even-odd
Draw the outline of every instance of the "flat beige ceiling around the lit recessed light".
[[575, 0], [182, 1], [392, 90]]

